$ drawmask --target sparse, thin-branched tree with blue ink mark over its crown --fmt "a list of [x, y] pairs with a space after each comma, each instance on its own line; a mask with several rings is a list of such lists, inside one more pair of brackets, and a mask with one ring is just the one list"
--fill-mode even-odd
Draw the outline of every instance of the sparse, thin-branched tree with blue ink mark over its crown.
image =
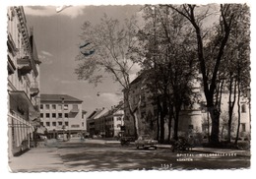
[[114, 82], [124, 90], [124, 100], [134, 121], [135, 136], [138, 136], [138, 118], [136, 111], [140, 105], [131, 105], [130, 72], [135, 62], [130, 58], [129, 49], [136, 45], [136, 19], [126, 19], [123, 24], [104, 15], [98, 25], [85, 22], [82, 26], [80, 46], [81, 53], [77, 60], [81, 61], [75, 70], [79, 80], [90, 83], [102, 82], [103, 75], [110, 75]]

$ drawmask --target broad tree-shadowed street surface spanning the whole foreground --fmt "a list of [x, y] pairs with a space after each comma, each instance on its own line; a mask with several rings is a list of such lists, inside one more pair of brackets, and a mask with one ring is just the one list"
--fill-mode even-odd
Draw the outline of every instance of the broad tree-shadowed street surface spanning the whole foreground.
[[112, 171], [112, 170], [175, 170], [249, 168], [250, 157], [235, 151], [171, 152], [170, 149], [136, 149], [116, 142], [79, 140], [60, 142], [31, 149], [10, 162], [13, 172], [19, 171]]

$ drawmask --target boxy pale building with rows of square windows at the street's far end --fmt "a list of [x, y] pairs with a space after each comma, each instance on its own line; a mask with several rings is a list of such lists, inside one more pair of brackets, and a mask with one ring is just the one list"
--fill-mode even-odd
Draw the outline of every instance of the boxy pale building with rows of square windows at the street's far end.
[[66, 139], [86, 132], [82, 102], [67, 94], [40, 94], [41, 125], [46, 127], [48, 138]]

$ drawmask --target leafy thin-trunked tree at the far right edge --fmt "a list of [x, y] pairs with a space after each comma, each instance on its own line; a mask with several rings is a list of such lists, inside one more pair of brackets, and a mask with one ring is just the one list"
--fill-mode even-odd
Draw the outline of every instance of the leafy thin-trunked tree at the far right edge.
[[[247, 94], [250, 83], [250, 14], [247, 5], [236, 5], [232, 29], [225, 46], [224, 63], [220, 66], [220, 72], [225, 79], [228, 90], [228, 128], [227, 141], [230, 142], [231, 124], [233, 123], [233, 108], [237, 99], [237, 105], [242, 96]], [[240, 89], [242, 85], [242, 90]], [[238, 107], [239, 108], [239, 107]], [[240, 116], [238, 110], [238, 121]], [[239, 123], [238, 123], [239, 128]], [[238, 129], [237, 128], [237, 129]]]

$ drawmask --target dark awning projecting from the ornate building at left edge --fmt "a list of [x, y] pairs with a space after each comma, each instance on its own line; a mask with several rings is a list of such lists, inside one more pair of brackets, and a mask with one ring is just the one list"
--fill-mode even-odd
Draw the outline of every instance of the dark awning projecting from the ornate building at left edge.
[[33, 120], [39, 116], [39, 112], [33, 107], [31, 99], [23, 90], [9, 90], [10, 94], [10, 108], [17, 110], [14, 106], [17, 106], [20, 110], [29, 111], [29, 118]]

